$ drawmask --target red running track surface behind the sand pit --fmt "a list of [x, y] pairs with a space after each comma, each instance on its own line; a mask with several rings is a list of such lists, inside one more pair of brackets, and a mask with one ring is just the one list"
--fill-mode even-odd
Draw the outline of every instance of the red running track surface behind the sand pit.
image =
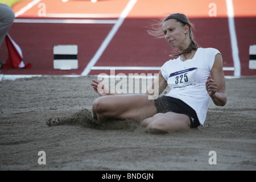
[[[32, 0], [23, 1], [13, 7], [19, 12]], [[42, 0], [16, 19], [39, 17], [39, 3], [46, 5], [48, 14], [108, 14], [112, 19], [125, 9], [129, 0], [59, 1]], [[225, 68], [234, 67], [232, 47], [225, 1], [215, 1], [217, 16], [209, 16], [210, 0], [169, 1], [138, 0], [127, 15], [125, 21], [113, 39], [97, 60], [95, 67], [160, 67], [170, 59], [171, 47], [164, 39], [154, 39], [148, 35], [146, 26], [152, 19], [165, 13], [184, 13], [195, 24], [195, 40], [201, 47], [217, 48], [223, 57]], [[241, 64], [241, 76], [256, 75], [256, 69], [249, 69], [249, 46], [256, 44], [256, 13], [253, 0], [233, 1], [234, 22], [237, 45]], [[52, 19], [52, 18], [47, 18]], [[63, 18], [62, 18], [63, 19]], [[69, 18], [70, 19], [70, 18]], [[77, 24], [77, 23], [14, 23], [9, 34], [22, 48], [24, 63], [31, 63], [31, 69], [1, 69], [4, 75], [81, 75], [92, 57], [112, 30], [113, 24]], [[70, 71], [53, 69], [53, 46], [76, 44], [79, 48], [79, 68]], [[7, 59], [5, 44], [0, 48], [0, 60]], [[116, 71], [115, 73], [157, 73], [158, 71]], [[109, 74], [108, 70], [92, 70], [89, 75]], [[234, 71], [224, 71], [226, 76], [233, 76]]]

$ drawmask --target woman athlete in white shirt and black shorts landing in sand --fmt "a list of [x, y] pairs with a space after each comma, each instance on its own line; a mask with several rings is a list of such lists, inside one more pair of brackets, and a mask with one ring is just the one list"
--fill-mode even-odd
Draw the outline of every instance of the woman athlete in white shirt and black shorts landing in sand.
[[[92, 80], [101, 97], [93, 102], [93, 117], [100, 122], [108, 118], [133, 119], [142, 127], [162, 131], [181, 131], [204, 125], [210, 99], [217, 106], [226, 104], [225, 78], [221, 53], [214, 48], [200, 48], [193, 40], [192, 24], [184, 14], [164, 19], [161, 32], [171, 47], [179, 50], [177, 59], [164, 63], [149, 88], [158, 84], [159, 95], [149, 100], [147, 94], [99, 93], [101, 81]], [[156, 31], [151, 31], [156, 32]], [[103, 87], [102, 87], [103, 88]], [[147, 93], [152, 93], [148, 90]]]

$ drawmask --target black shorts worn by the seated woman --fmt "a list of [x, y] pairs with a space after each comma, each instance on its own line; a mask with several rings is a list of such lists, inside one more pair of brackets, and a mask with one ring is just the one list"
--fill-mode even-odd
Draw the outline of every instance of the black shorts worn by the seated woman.
[[158, 113], [174, 112], [178, 114], [185, 114], [190, 119], [190, 127], [198, 127], [200, 125], [197, 118], [196, 111], [185, 102], [169, 96], [162, 96], [155, 100], [155, 107]]

